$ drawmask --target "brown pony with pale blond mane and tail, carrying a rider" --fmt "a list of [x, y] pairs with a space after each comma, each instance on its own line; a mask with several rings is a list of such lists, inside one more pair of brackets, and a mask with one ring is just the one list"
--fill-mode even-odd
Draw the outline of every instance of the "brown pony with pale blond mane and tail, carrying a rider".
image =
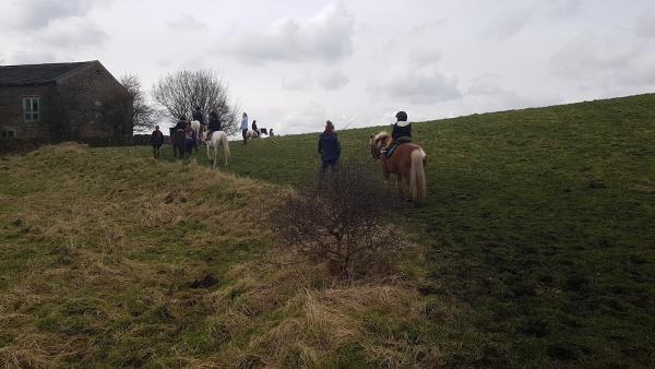
[[426, 153], [415, 143], [403, 143], [395, 148], [391, 157], [386, 157], [386, 155], [381, 154], [381, 151], [390, 140], [391, 136], [386, 132], [371, 135], [369, 140], [371, 156], [382, 160], [382, 171], [386, 182], [389, 182], [391, 175], [395, 175], [401, 191], [405, 192], [405, 189], [408, 189], [412, 201], [415, 204], [420, 204], [427, 195]]

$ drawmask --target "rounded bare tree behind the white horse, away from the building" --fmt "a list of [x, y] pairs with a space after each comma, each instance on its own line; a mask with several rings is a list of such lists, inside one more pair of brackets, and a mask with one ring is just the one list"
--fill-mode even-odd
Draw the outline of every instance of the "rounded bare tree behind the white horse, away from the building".
[[174, 118], [188, 117], [200, 107], [205, 122], [216, 111], [227, 134], [237, 132], [237, 107], [229, 103], [227, 85], [212, 70], [181, 70], [159, 79], [153, 96]]

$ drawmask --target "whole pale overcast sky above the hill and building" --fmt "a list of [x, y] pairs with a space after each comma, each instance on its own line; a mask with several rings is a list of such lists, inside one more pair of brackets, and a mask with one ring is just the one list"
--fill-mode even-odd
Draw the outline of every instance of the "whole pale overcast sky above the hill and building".
[[2, 64], [213, 69], [279, 133], [655, 92], [653, 0], [0, 0]]

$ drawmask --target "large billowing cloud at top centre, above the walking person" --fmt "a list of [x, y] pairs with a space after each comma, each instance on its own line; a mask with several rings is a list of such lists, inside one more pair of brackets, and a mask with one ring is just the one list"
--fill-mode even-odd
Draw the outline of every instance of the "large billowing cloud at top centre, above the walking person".
[[279, 19], [263, 31], [236, 34], [227, 49], [252, 63], [334, 62], [353, 53], [354, 24], [343, 3], [334, 2], [310, 19]]

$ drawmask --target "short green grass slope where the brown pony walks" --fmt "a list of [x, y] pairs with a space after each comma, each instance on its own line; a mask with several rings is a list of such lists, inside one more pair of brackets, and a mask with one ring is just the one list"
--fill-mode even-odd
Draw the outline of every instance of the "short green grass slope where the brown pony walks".
[[[433, 290], [469, 303], [487, 342], [452, 365], [655, 362], [655, 95], [413, 127], [429, 199], [397, 222], [427, 247]], [[380, 129], [340, 132], [343, 158], [367, 159]], [[302, 182], [317, 136], [234, 142], [226, 170]]]

